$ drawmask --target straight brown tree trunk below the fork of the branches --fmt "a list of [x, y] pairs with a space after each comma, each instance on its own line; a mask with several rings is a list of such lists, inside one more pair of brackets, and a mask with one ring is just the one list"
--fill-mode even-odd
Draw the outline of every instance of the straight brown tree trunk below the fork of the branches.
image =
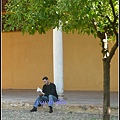
[[110, 62], [103, 59], [103, 120], [110, 120]]

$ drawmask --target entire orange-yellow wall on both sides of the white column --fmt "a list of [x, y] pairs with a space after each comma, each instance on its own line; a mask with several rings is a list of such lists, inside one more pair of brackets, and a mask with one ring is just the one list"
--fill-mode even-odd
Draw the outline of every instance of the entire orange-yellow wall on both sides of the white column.
[[[34, 36], [2, 33], [3, 89], [36, 89], [43, 76], [53, 82], [52, 37], [52, 30]], [[63, 33], [63, 61], [65, 90], [103, 90], [99, 39]], [[111, 91], [118, 91], [118, 50], [111, 61]]]

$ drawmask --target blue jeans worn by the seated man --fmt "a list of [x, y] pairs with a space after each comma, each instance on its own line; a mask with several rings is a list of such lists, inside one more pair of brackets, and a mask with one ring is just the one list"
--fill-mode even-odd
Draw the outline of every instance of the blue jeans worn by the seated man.
[[57, 102], [57, 98], [54, 95], [47, 96], [38, 96], [34, 102], [34, 107], [38, 107], [40, 104], [48, 103], [49, 106], [52, 106], [54, 102]]

